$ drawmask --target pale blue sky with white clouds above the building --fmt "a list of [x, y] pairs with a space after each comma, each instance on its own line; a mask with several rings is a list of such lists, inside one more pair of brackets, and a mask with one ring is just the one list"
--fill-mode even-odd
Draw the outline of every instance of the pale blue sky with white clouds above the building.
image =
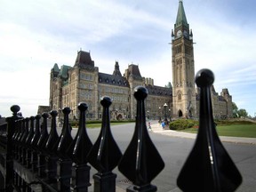
[[[215, 90], [228, 88], [238, 108], [256, 112], [256, 3], [183, 1], [194, 35], [196, 71], [210, 68]], [[0, 115], [23, 116], [49, 104], [54, 63], [73, 66], [90, 51], [100, 72], [138, 64], [156, 85], [172, 82], [171, 31], [179, 0], [0, 0]]]

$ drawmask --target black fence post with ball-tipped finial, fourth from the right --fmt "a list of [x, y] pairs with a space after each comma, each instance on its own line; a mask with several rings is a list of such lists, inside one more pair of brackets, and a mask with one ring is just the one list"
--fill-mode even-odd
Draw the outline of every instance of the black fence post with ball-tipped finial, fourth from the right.
[[91, 167], [87, 165], [87, 155], [92, 148], [92, 141], [89, 139], [85, 127], [85, 111], [87, 110], [85, 103], [79, 103], [80, 110], [79, 127], [76, 133], [76, 143], [73, 151], [73, 159], [76, 165], [73, 167], [72, 187], [76, 192], [87, 192], [90, 183]]

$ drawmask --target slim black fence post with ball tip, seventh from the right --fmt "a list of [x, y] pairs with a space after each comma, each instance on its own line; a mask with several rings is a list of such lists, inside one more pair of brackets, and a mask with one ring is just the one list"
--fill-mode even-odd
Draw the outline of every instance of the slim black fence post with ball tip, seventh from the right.
[[49, 133], [47, 130], [47, 118], [49, 115], [47, 113], [43, 113], [42, 116], [43, 116], [43, 126], [41, 129], [40, 138], [37, 142], [37, 148], [39, 149], [37, 168], [38, 168], [39, 177], [44, 178], [46, 176], [46, 173], [45, 173], [45, 164], [46, 164], [45, 145], [46, 145], [46, 141], [48, 140], [48, 137], [49, 137]]

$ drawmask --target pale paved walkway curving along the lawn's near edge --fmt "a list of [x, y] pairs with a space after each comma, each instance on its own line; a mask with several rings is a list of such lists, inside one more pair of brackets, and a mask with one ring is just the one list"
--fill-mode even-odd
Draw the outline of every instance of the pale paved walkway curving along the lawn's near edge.
[[[196, 133], [188, 133], [188, 132], [177, 132], [173, 130], [163, 130], [162, 126], [157, 123], [157, 121], [152, 121], [151, 123], [152, 132], [167, 135], [170, 137], [180, 137], [180, 138], [188, 138], [188, 139], [196, 139]], [[241, 144], [252, 144], [256, 145], [256, 138], [240, 138], [240, 137], [224, 137], [220, 136], [220, 140], [222, 142], [234, 142]]]

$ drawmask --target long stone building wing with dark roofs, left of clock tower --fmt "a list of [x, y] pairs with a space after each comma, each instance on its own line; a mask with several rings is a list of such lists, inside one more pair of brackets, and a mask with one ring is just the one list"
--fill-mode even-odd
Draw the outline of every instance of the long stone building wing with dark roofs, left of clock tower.
[[[102, 113], [100, 98], [108, 95], [113, 100], [110, 106], [112, 119], [134, 118], [136, 102], [133, 92], [138, 85], [148, 88], [146, 111], [149, 118], [171, 115], [172, 87], [154, 85], [154, 80], [142, 77], [139, 66], [134, 64], [125, 69], [124, 76], [117, 61], [112, 75], [101, 73], [94, 66], [90, 52], [80, 51], [77, 52], [74, 67], [59, 68], [58, 64], [54, 64], [50, 80], [50, 106], [57, 110], [68, 106], [71, 108], [70, 116], [77, 118], [77, 104], [85, 102], [88, 105], [86, 116], [98, 119]], [[164, 103], [167, 106], [163, 108]]]

